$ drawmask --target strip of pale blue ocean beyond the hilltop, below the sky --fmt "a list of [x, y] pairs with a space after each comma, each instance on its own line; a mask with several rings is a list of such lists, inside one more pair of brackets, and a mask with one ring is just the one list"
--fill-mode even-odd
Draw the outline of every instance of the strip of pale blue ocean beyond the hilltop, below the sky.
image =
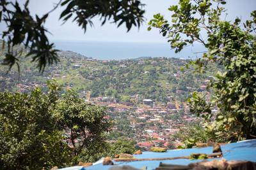
[[195, 59], [201, 57], [205, 49], [200, 45], [188, 46], [175, 53], [166, 43], [131, 43], [112, 41], [54, 41], [59, 50], [70, 50], [86, 57], [100, 60], [135, 59], [138, 57], [176, 57]]

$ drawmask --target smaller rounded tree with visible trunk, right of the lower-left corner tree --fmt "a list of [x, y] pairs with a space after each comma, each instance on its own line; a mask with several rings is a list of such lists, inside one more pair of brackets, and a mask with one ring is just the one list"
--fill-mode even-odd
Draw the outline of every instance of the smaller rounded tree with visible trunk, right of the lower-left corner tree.
[[104, 118], [106, 109], [86, 103], [73, 90], [68, 90], [58, 100], [55, 110], [56, 124], [67, 132], [67, 143], [79, 155], [91, 143], [104, 143], [106, 133], [111, 131], [111, 122]]

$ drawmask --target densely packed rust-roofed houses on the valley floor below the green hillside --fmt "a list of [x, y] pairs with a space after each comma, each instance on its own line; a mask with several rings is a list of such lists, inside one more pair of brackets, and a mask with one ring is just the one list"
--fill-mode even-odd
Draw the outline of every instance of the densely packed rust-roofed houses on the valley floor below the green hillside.
[[[176, 148], [181, 145], [179, 139], [172, 138], [179, 129], [188, 122], [200, 122], [201, 119], [191, 115], [185, 103], [175, 101], [167, 103], [165, 106], [156, 105], [152, 99], [143, 99], [143, 104], [108, 101], [106, 98], [97, 97], [90, 99], [91, 103], [99, 106], [107, 106], [111, 118], [125, 120], [129, 122], [129, 127], [133, 131], [132, 139], [144, 150], [152, 146], [166, 146]], [[214, 108], [212, 109], [214, 111]], [[173, 118], [170, 118], [173, 115]], [[175, 118], [176, 117], [178, 118]], [[110, 118], [110, 117], [108, 117]], [[113, 128], [114, 132], [124, 130]]]

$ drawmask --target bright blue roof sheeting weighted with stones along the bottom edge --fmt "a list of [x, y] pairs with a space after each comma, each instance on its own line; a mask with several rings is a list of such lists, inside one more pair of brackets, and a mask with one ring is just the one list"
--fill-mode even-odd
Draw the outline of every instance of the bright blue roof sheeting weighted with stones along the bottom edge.
[[[256, 139], [241, 141], [238, 143], [230, 143], [227, 145], [221, 146], [223, 152], [223, 158], [226, 160], [249, 160], [256, 162]], [[167, 150], [164, 153], [157, 152], [143, 152], [141, 155], [134, 155], [138, 159], [145, 158], [164, 158], [164, 157], [181, 157], [189, 156], [191, 153], [212, 153], [212, 147], [206, 148], [191, 148], [185, 150]], [[221, 158], [222, 159], [222, 158]], [[208, 159], [212, 160], [212, 159]], [[129, 165], [138, 169], [147, 167], [147, 169], [156, 169], [159, 167], [160, 162], [164, 164], [177, 164], [177, 165], [188, 165], [193, 162], [200, 162], [202, 160], [189, 160], [189, 159], [175, 159], [175, 160], [145, 160], [138, 162], [114, 162], [116, 166]], [[95, 164], [90, 167], [68, 167], [61, 170], [96, 170], [96, 169], [109, 169], [112, 166], [103, 166], [102, 163]]]

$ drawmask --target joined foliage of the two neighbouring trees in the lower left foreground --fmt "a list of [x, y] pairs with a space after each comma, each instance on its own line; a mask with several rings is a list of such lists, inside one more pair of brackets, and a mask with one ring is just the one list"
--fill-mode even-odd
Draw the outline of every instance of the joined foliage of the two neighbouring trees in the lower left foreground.
[[38, 88], [31, 94], [0, 93], [1, 169], [76, 164], [82, 149], [104, 145], [110, 125], [104, 108], [85, 103], [74, 92], [60, 97], [55, 83], [48, 86], [47, 94]]

